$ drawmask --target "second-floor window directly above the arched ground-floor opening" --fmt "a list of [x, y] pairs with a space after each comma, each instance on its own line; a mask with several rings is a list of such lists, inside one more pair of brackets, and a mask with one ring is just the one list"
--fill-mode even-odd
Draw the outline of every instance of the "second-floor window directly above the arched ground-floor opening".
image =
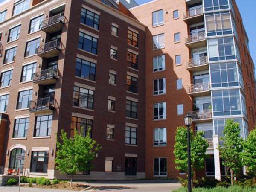
[[29, 118], [15, 119], [13, 138], [27, 137], [29, 131]]

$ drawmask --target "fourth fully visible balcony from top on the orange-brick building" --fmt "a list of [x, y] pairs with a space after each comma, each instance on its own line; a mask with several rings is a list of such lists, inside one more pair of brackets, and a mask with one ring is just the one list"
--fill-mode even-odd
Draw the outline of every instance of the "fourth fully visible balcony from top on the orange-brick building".
[[190, 96], [207, 96], [210, 94], [210, 83], [196, 83], [188, 87], [188, 94]]

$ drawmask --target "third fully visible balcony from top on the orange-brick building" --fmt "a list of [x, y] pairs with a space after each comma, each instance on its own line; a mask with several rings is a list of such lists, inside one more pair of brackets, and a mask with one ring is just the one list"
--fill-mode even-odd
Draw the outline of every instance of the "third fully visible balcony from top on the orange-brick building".
[[207, 56], [190, 59], [187, 61], [186, 68], [191, 72], [208, 70]]

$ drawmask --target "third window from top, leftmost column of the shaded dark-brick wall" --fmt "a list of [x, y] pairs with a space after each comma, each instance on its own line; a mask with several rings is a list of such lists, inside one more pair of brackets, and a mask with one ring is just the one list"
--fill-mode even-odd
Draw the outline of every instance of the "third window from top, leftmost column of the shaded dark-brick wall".
[[76, 76], [95, 81], [96, 64], [76, 58]]

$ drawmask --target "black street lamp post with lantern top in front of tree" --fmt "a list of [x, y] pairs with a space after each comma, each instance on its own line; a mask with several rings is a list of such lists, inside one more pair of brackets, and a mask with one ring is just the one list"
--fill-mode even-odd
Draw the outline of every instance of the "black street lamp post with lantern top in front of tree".
[[192, 176], [191, 176], [191, 152], [190, 152], [190, 126], [192, 125], [192, 116], [189, 113], [185, 116], [185, 125], [187, 126], [188, 140], [188, 192], [192, 192]]

